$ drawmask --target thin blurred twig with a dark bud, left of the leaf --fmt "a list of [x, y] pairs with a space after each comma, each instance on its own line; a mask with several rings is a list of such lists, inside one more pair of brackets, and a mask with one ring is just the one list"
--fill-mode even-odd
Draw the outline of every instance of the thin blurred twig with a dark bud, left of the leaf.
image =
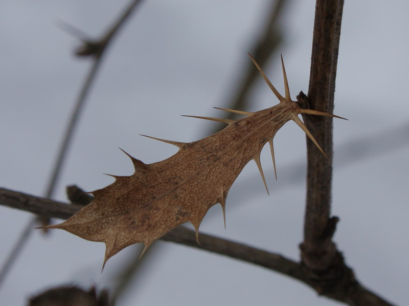
[[[50, 180], [48, 182], [46, 192], [44, 193], [44, 196], [47, 198], [51, 198], [54, 194], [55, 187], [58, 183], [58, 179], [61, 174], [61, 168], [66, 157], [67, 148], [71, 144], [71, 140], [73, 138], [74, 131], [79, 120], [79, 116], [85, 104], [85, 100], [89, 93], [89, 90], [95, 80], [95, 76], [97, 75], [98, 69], [101, 65], [103, 54], [105, 53], [105, 50], [107, 49], [109, 43], [112, 41], [112, 38], [115, 36], [116, 33], [118, 33], [118, 30], [121, 28], [121, 25], [130, 16], [134, 8], [141, 2], [142, 0], [133, 0], [131, 4], [124, 10], [120, 18], [113, 23], [112, 27], [109, 28], [109, 30], [100, 40], [93, 42], [84, 40], [83, 41], [84, 45], [80, 48], [79, 51], [77, 51], [78, 56], [83, 56], [85, 55], [85, 53], [88, 56], [92, 56], [94, 62], [88, 72], [87, 78], [79, 93], [76, 104], [74, 106], [73, 113], [71, 114], [69, 124], [65, 130], [65, 135], [59, 148], [58, 157], [55, 162]], [[50, 222], [49, 218], [44, 218], [44, 216], [34, 217], [28, 222], [0, 271], [0, 287], [4, 282], [4, 279], [6, 278], [7, 273], [10, 270], [11, 266], [17, 259], [18, 254], [21, 252], [22, 247], [24, 247], [24, 245], [28, 241], [30, 234], [32, 233], [32, 228], [34, 224], [37, 222], [37, 218], [42, 223], [42, 225], [48, 225]]]

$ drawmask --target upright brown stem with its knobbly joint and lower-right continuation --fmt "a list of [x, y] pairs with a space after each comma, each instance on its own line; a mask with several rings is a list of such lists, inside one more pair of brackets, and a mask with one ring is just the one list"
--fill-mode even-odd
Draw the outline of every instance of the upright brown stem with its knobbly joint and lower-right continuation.
[[[317, 0], [312, 42], [309, 107], [332, 113], [339, 37], [344, 0]], [[306, 274], [314, 281], [317, 292], [350, 305], [388, 305], [367, 291], [356, 280], [344, 261], [332, 236], [337, 217], [331, 213], [332, 118], [303, 115], [308, 129], [320, 143], [328, 158], [307, 140], [307, 199], [304, 241], [300, 245]], [[365, 293], [364, 293], [365, 292]]]

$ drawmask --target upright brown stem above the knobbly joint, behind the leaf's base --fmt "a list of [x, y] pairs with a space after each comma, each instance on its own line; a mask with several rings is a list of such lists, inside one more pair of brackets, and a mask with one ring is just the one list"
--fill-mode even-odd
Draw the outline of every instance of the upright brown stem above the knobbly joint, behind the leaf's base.
[[[343, 0], [317, 0], [308, 98], [310, 108], [332, 113]], [[332, 179], [332, 118], [303, 116], [305, 124], [328, 156], [307, 141], [307, 199], [302, 260], [313, 274], [334, 265], [337, 250], [332, 235], [338, 219], [330, 218]]]

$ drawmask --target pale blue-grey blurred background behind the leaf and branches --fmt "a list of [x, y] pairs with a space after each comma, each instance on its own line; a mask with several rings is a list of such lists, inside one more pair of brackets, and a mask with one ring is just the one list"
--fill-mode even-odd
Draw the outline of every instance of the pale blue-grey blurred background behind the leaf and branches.
[[[127, 1], [3, 1], [0, 9], [0, 186], [41, 196], [61, 135], [90, 65], [73, 56], [78, 41], [61, 31], [69, 22], [100, 35]], [[148, 138], [193, 141], [212, 123], [179, 115], [219, 116], [258, 35], [266, 0], [145, 0], [106, 54], [63, 168], [55, 199], [77, 184], [112, 182], [102, 173], [130, 175], [129, 159], [163, 160], [175, 148]], [[406, 1], [346, 1], [334, 113], [335, 242], [366, 287], [396, 304], [409, 300], [409, 20]], [[283, 16], [283, 54], [291, 95], [308, 91], [314, 1], [292, 0]], [[265, 71], [283, 92], [279, 54]], [[262, 82], [250, 111], [278, 100]], [[305, 201], [305, 137], [293, 122], [275, 137], [278, 181], [269, 149], [262, 154], [270, 196], [249, 163], [229, 192], [226, 230], [219, 205], [203, 233], [299, 259]], [[0, 206], [0, 263], [31, 219]], [[173, 243], [158, 242], [151, 266], [135, 278], [119, 306], [318, 305], [338, 303], [275, 272]], [[134, 247], [111, 258], [101, 274], [104, 245], [64, 231], [36, 231], [0, 288], [3, 305], [24, 305], [48, 287], [109, 288]]]

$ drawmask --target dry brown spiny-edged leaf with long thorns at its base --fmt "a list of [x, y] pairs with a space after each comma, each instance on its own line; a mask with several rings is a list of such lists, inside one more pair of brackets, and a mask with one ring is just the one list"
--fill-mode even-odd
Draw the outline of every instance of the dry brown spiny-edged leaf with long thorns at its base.
[[272, 138], [287, 121], [294, 120], [300, 125], [322, 151], [297, 115], [337, 116], [303, 109], [292, 101], [284, 63], [285, 97], [251, 59], [280, 104], [255, 113], [221, 109], [247, 116], [238, 120], [197, 117], [221, 121], [228, 126], [191, 143], [154, 138], [176, 145], [179, 151], [152, 164], [144, 164], [127, 154], [135, 168], [132, 175], [112, 175], [115, 182], [92, 192], [95, 197], [92, 203], [61, 224], [47, 227], [61, 228], [90, 241], [105, 242], [105, 264], [110, 257], [134, 243], [144, 243], [145, 251], [155, 240], [185, 222], [193, 224], [197, 235], [200, 222], [213, 205], [220, 203], [224, 214], [229, 189], [249, 161], [256, 162], [265, 184], [260, 164], [261, 149], [269, 142], [275, 168]]

